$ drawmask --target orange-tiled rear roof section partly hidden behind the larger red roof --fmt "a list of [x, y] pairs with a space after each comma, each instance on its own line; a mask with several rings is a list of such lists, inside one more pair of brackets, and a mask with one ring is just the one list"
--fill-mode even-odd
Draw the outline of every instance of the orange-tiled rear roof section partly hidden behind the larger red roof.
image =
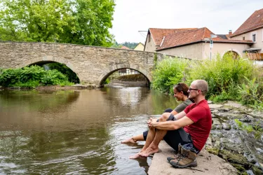
[[151, 33], [151, 37], [154, 39], [154, 43], [156, 46], [161, 45], [161, 41], [163, 41], [163, 36], [168, 34], [175, 34], [181, 31], [188, 31], [197, 28], [182, 28], [182, 29], [157, 29], [157, 28], [149, 28], [149, 32]]

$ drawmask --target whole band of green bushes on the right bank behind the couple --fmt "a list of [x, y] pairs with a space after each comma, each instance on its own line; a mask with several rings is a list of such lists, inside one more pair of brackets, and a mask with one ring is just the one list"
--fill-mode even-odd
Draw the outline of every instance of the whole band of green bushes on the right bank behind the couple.
[[208, 82], [208, 99], [213, 102], [236, 100], [263, 110], [263, 81], [259, 67], [248, 59], [217, 55], [214, 59], [193, 61], [166, 57], [156, 65], [152, 88], [173, 93], [173, 85], [203, 79]]

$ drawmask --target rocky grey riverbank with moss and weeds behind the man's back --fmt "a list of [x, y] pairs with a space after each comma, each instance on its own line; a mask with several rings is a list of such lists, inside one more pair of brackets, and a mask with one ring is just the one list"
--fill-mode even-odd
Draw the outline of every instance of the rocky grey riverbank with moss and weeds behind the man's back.
[[213, 128], [205, 149], [240, 174], [263, 174], [263, 113], [241, 104], [210, 104]]

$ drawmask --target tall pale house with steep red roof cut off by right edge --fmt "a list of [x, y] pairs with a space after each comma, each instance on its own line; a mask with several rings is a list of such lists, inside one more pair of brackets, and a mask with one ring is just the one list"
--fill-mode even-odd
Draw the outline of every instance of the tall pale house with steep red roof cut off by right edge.
[[263, 59], [263, 8], [256, 10], [248, 20], [233, 33], [229, 34], [230, 39], [252, 40], [250, 48], [245, 52], [259, 53]]

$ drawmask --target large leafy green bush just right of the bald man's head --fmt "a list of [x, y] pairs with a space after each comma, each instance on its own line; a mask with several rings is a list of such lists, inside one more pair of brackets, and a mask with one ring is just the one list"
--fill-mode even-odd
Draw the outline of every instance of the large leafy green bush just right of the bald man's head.
[[233, 59], [232, 55], [224, 55], [224, 57], [217, 55], [215, 59], [194, 63], [187, 77], [187, 83], [203, 79], [208, 82], [207, 96], [211, 99], [237, 99], [239, 94], [236, 87], [243, 82], [244, 76], [248, 78], [255, 76], [254, 69], [250, 60]]

